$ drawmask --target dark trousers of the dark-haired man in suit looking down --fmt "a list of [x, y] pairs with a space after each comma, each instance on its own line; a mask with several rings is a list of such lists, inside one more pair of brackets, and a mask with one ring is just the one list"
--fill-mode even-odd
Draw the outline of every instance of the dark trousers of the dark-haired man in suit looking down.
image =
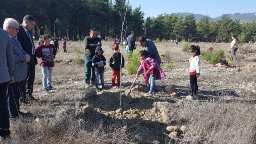
[[[35, 70], [36, 70], [36, 64], [35, 64], [35, 56], [31, 56], [30, 61], [28, 62], [28, 76], [27, 76], [27, 80], [26, 80], [26, 94], [28, 95], [30, 98], [32, 97], [32, 93], [33, 93], [33, 87], [34, 87], [34, 81], [35, 81]], [[24, 86], [24, 85], [22, 85]], [[24, 89], [24, 88], [22, 88]], [[24, 96], [24, 92], [23, 96]]]

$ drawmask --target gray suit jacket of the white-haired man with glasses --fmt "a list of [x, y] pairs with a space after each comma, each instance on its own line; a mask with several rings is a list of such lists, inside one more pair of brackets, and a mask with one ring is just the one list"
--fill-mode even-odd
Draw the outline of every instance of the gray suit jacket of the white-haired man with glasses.
[[26, 52], [22, 49], [20, 42], [16, 38], [10, 38], [14, 55], [14, 82], [25, 80], [28, 75], [28, 64], [26, 62]]

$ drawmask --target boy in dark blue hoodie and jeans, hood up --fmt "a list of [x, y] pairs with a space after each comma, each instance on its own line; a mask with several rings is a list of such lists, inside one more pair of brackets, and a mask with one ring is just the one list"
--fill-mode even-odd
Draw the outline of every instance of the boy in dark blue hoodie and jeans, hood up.
[[103, 56], [103, 50], [100, 46], [97, 46], [95, 49], [95, 56], [92, 58], [92, 66], [95, 67], [95, 86], [97, 90], [100, 90], [98, 87], [98, 82], [101, 82], [102, 89], [105, 88], [104, 85], [104, 66], [106, 66], [106, 58]]

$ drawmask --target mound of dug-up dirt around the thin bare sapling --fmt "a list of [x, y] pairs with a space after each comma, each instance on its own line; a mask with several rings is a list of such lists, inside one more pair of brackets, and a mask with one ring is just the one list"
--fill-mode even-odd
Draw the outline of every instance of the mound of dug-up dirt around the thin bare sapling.
[[[164, 96], [154, 96], [153, 98], [145, 97], [146, 87], [137, 85], [132, 92], [126, 96], [128, 88], [122, 91], [122, 109], [119, 103], [119, 89], [109, 89], [96, 92], [89, 90], [84, 98], [76, 103], [76, 116], [85, 121], [107, 120], [116, 121], [122, 120], [127, 124], [129, 132], [133, 132], [135, 137], [144, 140], [153, 141], [156, 135], [159, 135], [160, 140], [166, 140], [166, 132], [159, 134], [160, 130], [172, 123], [175, 115], [173, 103], [175, 106], [181, 104], [173, 100], [166, 100]], [[170, 96], [167, 92], [158, 92], [159, 95]]]

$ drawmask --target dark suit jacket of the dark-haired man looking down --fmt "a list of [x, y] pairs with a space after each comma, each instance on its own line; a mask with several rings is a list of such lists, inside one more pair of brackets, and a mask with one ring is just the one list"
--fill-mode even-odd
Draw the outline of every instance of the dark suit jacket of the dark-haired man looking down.
[[[29, 32], [30, 34], [30, 37], [33, 38], [32, 36], [32, 32]], [[30, 42], [30, 39], [28, 38], [23, 26], [20, 24], [19, 26], [19, 32], [17, 34], [17, 39], [18, 41], [20, 42], [20, 45], [22, 46], [22, 49], [30, 55], [30, 57], [32, 57], [32, 44]], [[32, 43], [34, 45], [34, 42], [32, 40]], [[34, 45], [34, 48], [35, 45]], [[36, 55], [34, 55], [34, 60], [35, 60], [35, 63], [37, 63], [37, 60], [36, 60]]]

